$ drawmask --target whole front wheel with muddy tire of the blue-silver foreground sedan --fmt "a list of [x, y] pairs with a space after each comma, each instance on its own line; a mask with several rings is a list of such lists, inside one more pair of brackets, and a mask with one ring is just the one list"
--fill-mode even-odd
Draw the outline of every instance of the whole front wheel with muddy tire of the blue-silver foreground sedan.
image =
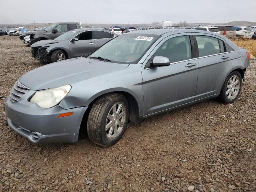
[[[119, 107], [121, 108], [119, 115], [123, 114], [122, 117], [115, 116], [113, 112], [113, 108], [116, 108], [116, 114], [118, 114]], [[112, 121], [109, 116], [113, 116], [113, 118], [111, 117]], [[128, 120], [129, 104], [125, 96], [117, 93], [106, 94], [98, 98], [92, 105], [87, 121], [88, 136], [95, 144], [104, 147], [112, 146], [122, 138]], [[120, 122], [123, 126], [119, 126]], [[109, 128], [106, 129], [107, 125]], [[116, 129], [113, 125], [116, 126]]]

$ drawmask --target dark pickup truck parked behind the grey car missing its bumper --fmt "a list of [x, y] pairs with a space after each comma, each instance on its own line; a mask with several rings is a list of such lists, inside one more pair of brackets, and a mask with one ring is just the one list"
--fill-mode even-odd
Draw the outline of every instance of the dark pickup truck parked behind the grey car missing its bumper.
[[32, 45], [37, 41], [55, 39], [58, 36], [70, 30], [80, 29], [80, 28], [81, 26], [79, 23], [69, 23], [69, 22], [54, 23], [54, 24], [50, 24], [48, 27], [44, 28], [43, 30], [26, 32], [26, 35], [30, 35], [29, 45]]

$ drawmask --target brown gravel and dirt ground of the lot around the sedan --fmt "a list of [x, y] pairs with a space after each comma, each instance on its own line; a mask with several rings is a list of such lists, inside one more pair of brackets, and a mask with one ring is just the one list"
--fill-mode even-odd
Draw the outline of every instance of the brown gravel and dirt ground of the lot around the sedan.
[[[42, 66], [18, 37], [0, 36], [0, 95]], [[6, 126], [0, 100], [0, 192], [256, 191], [256, 62], [233, 104], [209, 100], [132, 123], [110, 148], [32, 144]], [[91, 184], [86, 184], [91, 178]]]

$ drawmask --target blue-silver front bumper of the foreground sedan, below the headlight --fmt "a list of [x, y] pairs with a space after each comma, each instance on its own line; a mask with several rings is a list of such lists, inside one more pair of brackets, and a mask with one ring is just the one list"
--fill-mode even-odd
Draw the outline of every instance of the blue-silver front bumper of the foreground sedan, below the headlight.
[[[74, 143], [78, 140], [80, 124], [88, 107], [65, 110], [60, 106], [43, 109], [28, 102], [30, 91], [17, 103], [7, 98], [5, 111], [8, 125], [12, 130], [33, 143]], [[32, 93], [32, 94], [33, 94]], [[74, 112], [72, 116], [58, 118], [59, 114]]]

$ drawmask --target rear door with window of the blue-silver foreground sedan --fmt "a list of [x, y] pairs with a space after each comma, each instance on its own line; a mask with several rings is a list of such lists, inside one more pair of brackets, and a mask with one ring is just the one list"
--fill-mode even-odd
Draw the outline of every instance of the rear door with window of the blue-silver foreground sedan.
[[195, 100], [220, 93], [224, 80], [232, 69], [232, 54], [224, 39], [202, 33], [193, 33], [198, 56], [198, 80]]

